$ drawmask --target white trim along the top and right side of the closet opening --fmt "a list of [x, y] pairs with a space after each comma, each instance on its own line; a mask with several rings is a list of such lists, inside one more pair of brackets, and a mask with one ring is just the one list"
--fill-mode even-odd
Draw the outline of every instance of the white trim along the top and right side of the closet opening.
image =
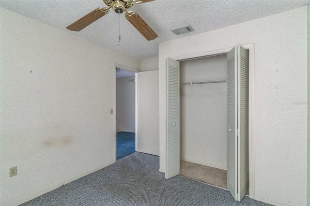
[[[228, 48], [222, 48], [217, 50], [205, 51], [200, 53], [192, 53], [182, 56], [171, 57], [170, 59], [185, 61], [189, 59], [199, 59], [203, 57], [211, 57], [222, 54], [227, 54], [234, 46]], [[249, 65], [248, 65], [248, 175], [249, 175], [249, 197], [254, 199], [255, 197], [255, 178], [254, 178], [254, 57], [255, 49], [254, 43], [241, 44], [243, 48], [248, 50]], [[167, 137], [166, 137], [167, 138]], [[167, 153], [167, 147], [166, 147]]]

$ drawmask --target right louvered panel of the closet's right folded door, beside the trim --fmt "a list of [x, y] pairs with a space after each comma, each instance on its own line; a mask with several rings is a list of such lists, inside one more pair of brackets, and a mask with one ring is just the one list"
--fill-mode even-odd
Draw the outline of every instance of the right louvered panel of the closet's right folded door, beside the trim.
[[248, 50], [238, 53], [238, 201], [248, 192]]

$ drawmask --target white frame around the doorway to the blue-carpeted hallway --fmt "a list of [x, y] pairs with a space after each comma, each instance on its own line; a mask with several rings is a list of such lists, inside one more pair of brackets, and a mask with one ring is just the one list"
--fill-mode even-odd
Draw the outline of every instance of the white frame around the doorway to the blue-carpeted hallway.
[[116, 69], [127, 70], [129, 72], [135, 73], [135, 144], [136, 149], [138, 146], [138, 72], [141, 72], [138, 69], [128, 67], [122, 64], [114, 63], [114, 161], [116, 162], [117, 154], [116, 154]]

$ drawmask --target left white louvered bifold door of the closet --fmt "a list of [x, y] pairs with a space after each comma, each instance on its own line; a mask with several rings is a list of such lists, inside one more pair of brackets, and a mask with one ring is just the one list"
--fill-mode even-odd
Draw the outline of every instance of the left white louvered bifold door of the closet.
[[167, 59], [167, 142], [165, 178], [180, 174], [180, 63]]

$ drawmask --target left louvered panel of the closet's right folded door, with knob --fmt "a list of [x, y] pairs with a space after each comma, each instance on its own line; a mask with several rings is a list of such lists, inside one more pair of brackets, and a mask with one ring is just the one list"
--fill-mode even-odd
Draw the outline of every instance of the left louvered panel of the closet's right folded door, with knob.
[[227, 188], [238, 199], [237, 48], [227, 54]]

